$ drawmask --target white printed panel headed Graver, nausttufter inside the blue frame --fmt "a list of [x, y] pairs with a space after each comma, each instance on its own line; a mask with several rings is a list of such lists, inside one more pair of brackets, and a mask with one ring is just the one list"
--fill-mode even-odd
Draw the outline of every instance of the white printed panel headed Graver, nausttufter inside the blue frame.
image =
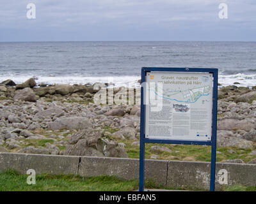
[[145, 138], [210, 141], [212, 74], [148, 72]]

